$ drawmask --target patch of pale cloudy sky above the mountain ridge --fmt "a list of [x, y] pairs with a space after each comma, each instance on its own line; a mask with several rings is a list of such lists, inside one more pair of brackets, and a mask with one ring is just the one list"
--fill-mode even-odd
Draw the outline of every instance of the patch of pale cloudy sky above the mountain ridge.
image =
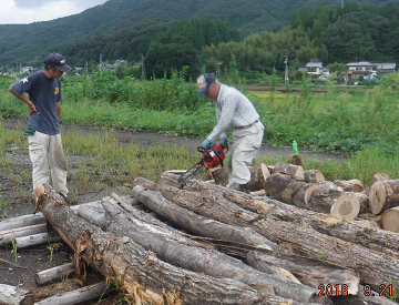
[[0, 0], [0, 24], [54, 20], [105, 2], [106, 0]]

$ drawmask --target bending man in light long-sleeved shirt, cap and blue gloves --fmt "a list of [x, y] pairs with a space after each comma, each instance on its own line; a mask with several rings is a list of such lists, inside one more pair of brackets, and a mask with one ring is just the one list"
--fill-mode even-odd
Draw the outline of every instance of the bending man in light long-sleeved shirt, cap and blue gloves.
[[252, 102], [237, 89], [221, 84], [212, 73], [202, 74], [197, 80], [198, 96], [211, 99], [216, 106], [217, 124], [202, 143], [206, 150], [212, 142], [221, 139], [227, 148], [227, 130], [233, 131], [233, 143], [228, 157], [229, 189], [249, 193], [250, 172], [247, 167], [262, 145], [264, 125]]

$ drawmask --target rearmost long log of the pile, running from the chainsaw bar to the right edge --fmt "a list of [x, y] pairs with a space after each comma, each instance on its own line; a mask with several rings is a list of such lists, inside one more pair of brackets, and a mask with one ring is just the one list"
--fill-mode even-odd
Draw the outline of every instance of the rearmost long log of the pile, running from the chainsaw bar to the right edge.
[[[163, 173], [160, 183], [174, 185], [177, 181], [176, 175]], [[137, 177], [133, 185], [144, 185], [150, 190], [157, 190], [157, 183]], [[178, 185], [178, 184], [177, 184]], [[290, 218], [298, 224], [305, 224], [314, 230], [337, 237], [349, 243], [359, 244], [388, 255], [396, 256], [399, 253], [399, 234], [376, 226], [365, 225], [360, 221], [347, 221], [340, 217], [326, 215], [294, 205], [287, 205], [283, 202], [270, 200], [267, 197], [253, 197], [242, 192], [233, 191], [219, 185], [213, 185], [198, 180], [188, 180], [184, 185], [184, 190], [192, 192], [213, 191], [219, 193], [224, 199], [237, 204], [238, 206], [276, 218]]]

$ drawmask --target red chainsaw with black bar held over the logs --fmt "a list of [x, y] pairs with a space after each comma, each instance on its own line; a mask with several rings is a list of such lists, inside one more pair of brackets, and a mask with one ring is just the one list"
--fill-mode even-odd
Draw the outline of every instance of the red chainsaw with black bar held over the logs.
[[198, 146], [197, 151], [203, 154], [202, 160], [196, 163], [193, 167], [187, 170], [185, 173], [183, 173], [178, 179], [177, 182], [182, 183], [185, 181], [188, 176], [195, 174], [202, 166], [205, 166], [206, 169], [214, 169], [221, 165], [223, 167], [223, 160], [226, 156], [226, 153], [228, 151], [227, 149], [223, 149], [223, 145], [211, 145], [208, 150], [204, 149], [203, 146]]

